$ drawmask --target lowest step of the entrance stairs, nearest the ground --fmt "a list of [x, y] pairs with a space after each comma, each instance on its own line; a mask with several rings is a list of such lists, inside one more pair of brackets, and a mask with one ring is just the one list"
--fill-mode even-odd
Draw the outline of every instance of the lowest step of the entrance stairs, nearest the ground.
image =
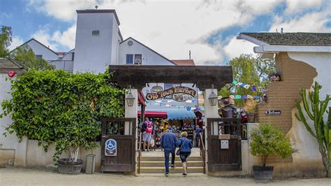
[[[169, 169], [170, 173], [183, 173], [182, 166], [177, 166], [175, 169]], [[140, 173], [165, 173], [165, 167], [146, 167], [140, 166]], [[203, 173], [202, 166], [189, 166], [187, 173]]]

